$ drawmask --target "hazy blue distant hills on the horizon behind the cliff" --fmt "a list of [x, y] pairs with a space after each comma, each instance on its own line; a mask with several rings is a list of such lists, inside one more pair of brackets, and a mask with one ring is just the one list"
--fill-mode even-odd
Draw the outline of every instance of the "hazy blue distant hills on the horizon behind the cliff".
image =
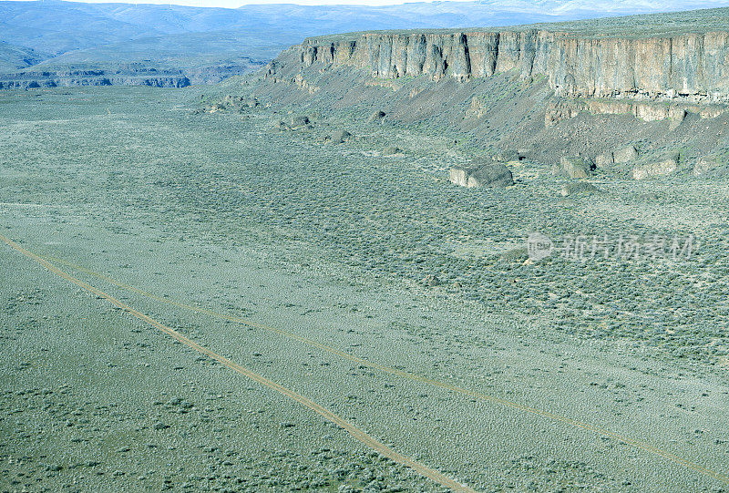
[[[387, 6], [245, 5], [227, 9], [3, 1], [0, 87], [27, 87], [36, 77], [33, 74], [67, 74], [79, 68], [102, 73], [98, 81], [87, 77], [78, 83], [118, 83], [125, 79], [120, 72], [124, 68], [119, 67], [128, 64], [138, 67], [134, 83], [145, 83], [144, 77], [138, 77], [139, 67], [151, 69], [152, 74], [162, 70], [169, 77], [188, 77], [193, 83], [216, 82], [261, 67], [307, 36], [374, 29], [510, 26], [665, 12], [681, 10], [684, 5], [676, 0], [482, 0]], [[721, 5], [729, 2], [703, 0], [691, 6]], [[216, 71], [216, 67], [221, 68]], [[56, 85], [73, 82], [73, 77], [48, 77]], [[175, 84], [186, 83], [180, 79]]]

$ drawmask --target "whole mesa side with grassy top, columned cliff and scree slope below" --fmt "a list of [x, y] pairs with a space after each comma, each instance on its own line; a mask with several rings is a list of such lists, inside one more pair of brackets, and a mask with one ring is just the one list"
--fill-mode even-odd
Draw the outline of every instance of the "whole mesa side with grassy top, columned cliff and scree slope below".
[[630, 145], [702, 174], [721, 168], [729, 143], [728, 12], [315, 37], [242, 92], [279, 109], [382, 110], [488, 155], [555, 163]]

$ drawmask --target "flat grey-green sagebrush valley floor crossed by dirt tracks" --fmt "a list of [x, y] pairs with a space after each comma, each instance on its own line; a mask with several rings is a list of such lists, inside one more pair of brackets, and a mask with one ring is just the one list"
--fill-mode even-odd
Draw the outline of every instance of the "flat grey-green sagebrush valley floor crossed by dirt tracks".
[[[457, 136], [198, 90], [0, 95], [0, 235], [478, 491], [729, 490], [722, 183], [459, 189]], [[528, 262], [529, 231], [700, 248]], [[0, 308], [4, 491], [443, 489], [5, 243]]]

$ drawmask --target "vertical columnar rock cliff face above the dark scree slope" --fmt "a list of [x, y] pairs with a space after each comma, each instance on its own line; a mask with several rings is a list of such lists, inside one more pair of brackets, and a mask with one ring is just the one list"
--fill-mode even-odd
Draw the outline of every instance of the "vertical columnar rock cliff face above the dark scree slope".
[[352, 66], [373, 77], [549, 77], [557, 95], [729, 102], [729, 32], [589, 37], [541, 29], [372, 32], [308, 38], [304, 67]]

